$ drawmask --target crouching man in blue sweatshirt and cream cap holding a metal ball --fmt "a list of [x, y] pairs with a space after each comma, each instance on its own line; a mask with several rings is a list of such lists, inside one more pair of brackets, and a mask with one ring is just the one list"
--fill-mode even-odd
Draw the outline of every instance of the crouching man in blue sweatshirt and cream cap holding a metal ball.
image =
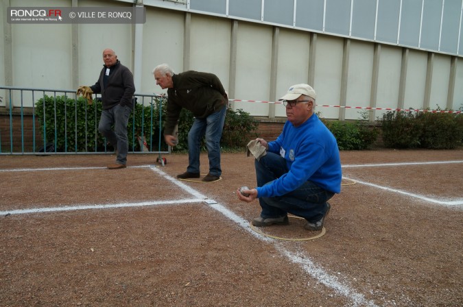
[[[327, 202], [341, 191], [341, 161], [336, 140], [314, 114], [316, 93], [307, 84], [291, 86], [283, 100], [287, 121], [273, 142], [254, 161], [257, 188], [237, 190], [241, 201], [259, 197], [261, 216], [254, 226], [287, 225], [287, 213], [307, 220], [305, 229], [321, 230], [330, 210]], [[259, 152], [259, 150], [257, 150]]]

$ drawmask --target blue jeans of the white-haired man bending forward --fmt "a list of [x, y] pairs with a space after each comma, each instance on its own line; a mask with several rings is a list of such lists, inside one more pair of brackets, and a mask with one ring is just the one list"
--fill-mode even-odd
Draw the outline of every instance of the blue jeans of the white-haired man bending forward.
[[215, 112], [205, 119], [195, 118], [188, 132], [188, 167], [189, 173], [200, 173], [201, 141], [206, 135], [207, 156], [209, 158], [209, 173], [220, 177], [220, 138], [224, 129], [226, 108]]

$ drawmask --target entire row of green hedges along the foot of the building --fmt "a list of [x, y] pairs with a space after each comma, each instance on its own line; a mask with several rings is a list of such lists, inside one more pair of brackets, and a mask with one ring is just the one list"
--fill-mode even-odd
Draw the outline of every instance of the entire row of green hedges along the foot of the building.
[[[151, 98], [150, 98], [151, 99]], [[159, 119], [165, 119], [167, 99], [152, 99], [147, 106], [136, 103], [128, 123], [129, 151], [141, 151], [137, 136], [145, 136], [150, 151], [167, 151]], [[45, 112], [44, 112], [45, 111]], [[71, 99], [66, 96], [48, 97], [36, 101], [35, 116], [46, 143], [54, 143], [58, 152], [113, 151], [98, 132], [102, 103]], [[365, 117], [365, 115], [363, 116]], [[188, 149], [188, 132], [193, 114], [182, 110], [178, 124], [178, 145], [173, 151]], [[372, 147], [379, 129], [368, 121], [327, 121], [340, 150], [363, 150]], [[152, 128], [153, 127], [153, 128]], [[244, 150], [248, 140], [256, 138], [258, 122], [241, 109], [227, 109], [221, 145], [225, 150]], [[454, 149], [463, 142], [463, 115], [449, 112], [391, 111], [381, 120], [383, 144], [390, 148]], [[160, 143], [161, 137], [161, 143]], [[204, 142], [202, 150], [206, 150]]]

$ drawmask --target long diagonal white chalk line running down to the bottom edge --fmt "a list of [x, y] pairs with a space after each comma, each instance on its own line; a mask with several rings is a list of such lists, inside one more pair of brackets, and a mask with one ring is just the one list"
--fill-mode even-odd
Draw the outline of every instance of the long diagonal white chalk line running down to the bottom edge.
[[[183, 184], [179, 180], [176, 180], [175, 178], [171, 177], [170, 175], [167, 175], [167, 173], [161, 171], [161, 169], [158, 169], [157, 167], [150, 167], [153, 171], [158, 173], [159, 175], [163, 176], [166, 180], [169, 180], [170, 182], [176, 184], [180, 188], [185, 189], [185, 191], [192, 193], [193, 195], [202, 195], [198, 191], [195, 191], [193, 188], [190, 186], [187, 186], [186, 184]], [[208, 201], [209, 200], [209, 201]], [[261, 241], [265, 241], [268, 243], [273, 243], [273, 245], [276, 247], [276, 249], [285, 257], [289, 258], [292, 262], [300, 265], [304, 271], [306, 271], [309, 275], [311, 275], [313, 278], [318, 280], [320, 283], [324, 284], [325, 286], [332, 288], [336, 293], [339, 293], [340, 295], [344, 295], [351, 299], [353, 301], [353, 306], [371, 306], [371, 307], [376, 307], [377, 305], [366, 299], [365, 296], [361, 293], [357, 293], [353, 288], [346, 286], [345, 284], [342, 284], [339, 282], [337, 279], [337, 276], [330, 275], [327, 273], [327, 271], [324, 271], [321, 267], [318, 267], [315, 263], [313, 263], [309, 256], [307, 254], [302, 254], [301, 252], [299, 253], [294, 253], [293, 251], [289, 251], [289, 249], [286, 249], [283, 247], [281, 243], [278, 243], [278, 241], [269, 238], [267, 236], [262, 236], [261, 234], [258, 234], [257, 232], [254, 232], [252, 228], [250, 228], [249, 221], [243, 219], [242, 217], [239, 217], [235, 212], [229, 210], [222, 204], [217, 203], [216, 201], [213, 201], [212, 199], [206, 199], [205, 200], [206, 204], [209, 204], [211, 208], [219, 211], [220, 213], [224, 214], [228, 219], [231, 221], [234, 221], [239, 225], [241, 228], [249, 232], [252, 236], [255, 236], [256, 238], [259, 238]]]

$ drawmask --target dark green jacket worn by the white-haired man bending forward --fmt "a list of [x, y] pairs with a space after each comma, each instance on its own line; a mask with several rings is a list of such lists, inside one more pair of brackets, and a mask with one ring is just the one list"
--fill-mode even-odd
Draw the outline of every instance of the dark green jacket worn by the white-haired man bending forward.
[[180, 112], [185, 108], [198, 119], [226, 108], [228, 97], [213, 73], [185, 71], [172, 76], [174, 87], [167, 90], [167, 114], [164, 135], [173, 135]]

